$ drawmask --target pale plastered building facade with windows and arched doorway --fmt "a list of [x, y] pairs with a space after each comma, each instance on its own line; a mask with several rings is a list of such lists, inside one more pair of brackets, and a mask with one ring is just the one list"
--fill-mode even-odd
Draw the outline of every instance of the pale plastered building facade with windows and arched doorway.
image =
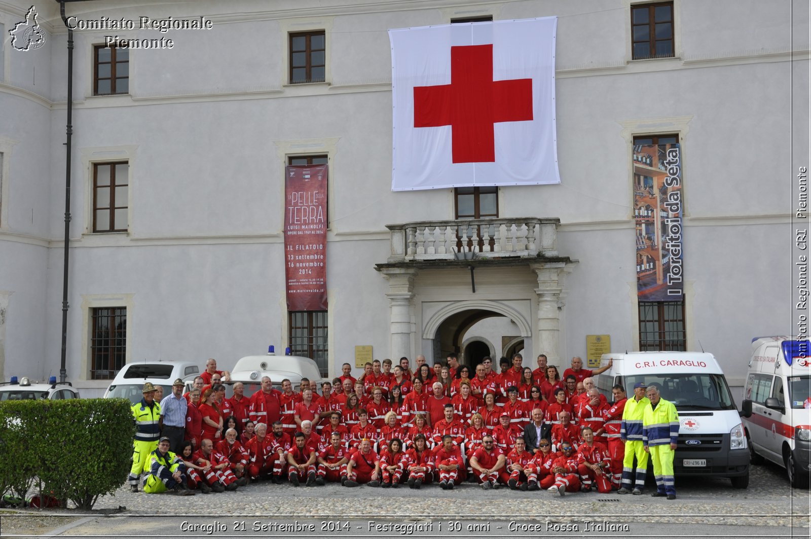
[[[651, 19], [645, 38], [632, 12], [655, 18], [661, 6], [670, 18]], [[58, 3], [41, 0], [45, 44], [17, 50], [9, 31], [29, 7], [0, 3], [5, 380], [58, 375], [62, 337], [67, 29]], [[586, 356], [587, 335], [609, 335], [616, 351], [711, 351], [742, 386], [752, 337], [796, 334], [792, 188], [809, 155], [808, 10], [755, 0], [67, 2], [79, 27], [68, 379], [99, 395], [123, 361], [214, 357], [228, 369], [291, 343], [329, 377], [354, 365], [356, 346], [429, 363], [523, 350], [525, 365], [543, 353], [562, 372]], [[102, 16], [135, 28], [80, 29]], [[559, 18], [561, 183], [392, 192], [388, 29], [542, 16]], [[210, 28], [139, 29], [141, 17]], [[97, 47], [108, 36], [150, 48]], [[663, 47], [659, 58], [634, 59], [644, 39]], [[659, 138], [675, 138], [683, 157], [684, 299], [641, 309], [633, 153]], [[328, 310], [297, 316], [285, 300], [284, 172], [307, 162], [329, 170]], [[487, 233], [485, 250], [498, 229], [500, 251], [457, 261], [468, 225], [471, 244]], [[441, 247], [428, 238], [440, 231]]]

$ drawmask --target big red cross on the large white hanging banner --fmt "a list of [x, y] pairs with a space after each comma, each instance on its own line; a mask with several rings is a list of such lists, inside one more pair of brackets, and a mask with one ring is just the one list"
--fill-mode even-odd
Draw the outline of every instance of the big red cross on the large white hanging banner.
[[496, 161], [493, 124], [532, 119], [532, 79], [493, 80], [493, 45], [451, 47], [451, 84], [414, 87], [414, 127], [452, 128], [453, 162]]

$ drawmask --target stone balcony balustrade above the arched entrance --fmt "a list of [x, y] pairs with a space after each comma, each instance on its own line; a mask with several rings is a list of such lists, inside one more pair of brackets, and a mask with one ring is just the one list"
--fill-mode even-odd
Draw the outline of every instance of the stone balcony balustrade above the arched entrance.
[[389, 264], [455, 261], [466, 253], [478, 260], [559, 257], [556, 218], [485, 218], [386, 225], [391, 231]]

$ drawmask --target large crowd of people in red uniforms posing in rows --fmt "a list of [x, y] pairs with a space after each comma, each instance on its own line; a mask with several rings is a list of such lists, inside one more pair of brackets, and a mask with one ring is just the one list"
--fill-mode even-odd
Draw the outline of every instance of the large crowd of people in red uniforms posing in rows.
[[[344, 364], [320, 394], [306, 378], [294, 391], [289, 380], [276, 390], [264, 377], [250, 398], [234, 384], [230, 399], [220, 383], [227, 373], [208, 373], [187, 394], [180, 458], [188, 485], [213, 474], [225, 486], [264, 478], [414, 489], [476, 481], [560, 495], [619, 489], [625, 393], [617, 386], [609, 404], [592, 378], [610, 364], [590, 371], [575, 357], [561, 380], [543, 354], [537, 369], [522, 362], [520, 354], [501, 358], [496, 373], [489, 357], [475, 370], [453, 355], [432, 368], [418, 356], [413, 370], [407, 358], [375, 360], [358, 378]], [[205, 469], [186, 460], [199, 451]]]

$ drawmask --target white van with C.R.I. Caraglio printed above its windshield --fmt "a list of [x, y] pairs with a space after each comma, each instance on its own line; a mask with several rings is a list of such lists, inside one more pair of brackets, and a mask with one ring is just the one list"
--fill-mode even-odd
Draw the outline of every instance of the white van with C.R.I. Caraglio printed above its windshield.
[[633, 399], [633, 386], [659, 386], [662, 398], [679, 412], [679, 441], [673, 471], [679, 476], [729, 477], [736, 489], [749, 486], [749, 449], [727, 380], [712, 354], [692, 351], [637, 351], [603, 354], [611, 369], [597, 387], [611, 402], [620, 384]]

